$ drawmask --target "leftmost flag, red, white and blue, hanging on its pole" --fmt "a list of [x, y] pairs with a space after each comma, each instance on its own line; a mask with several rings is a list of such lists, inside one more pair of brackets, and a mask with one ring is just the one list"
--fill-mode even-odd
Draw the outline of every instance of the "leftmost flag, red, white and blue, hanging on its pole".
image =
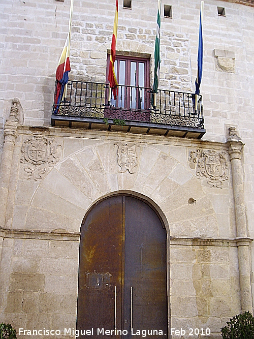
[[58, 61], [58, 66], [55, 72], [56, 78], [56, 93], [55, 93], [55, 105], [58, 105], [62, 100], [62, 97], [67, 95], [67, 82], [69, 80], [69, 72], [71, 71], [70, 65], [70, 44], [71, 44], [71, 30], [72, 30], [72, 12], [73, 1], [71, 0], [70, 18], [69, 18], [69, 32], [63, 46], [61, 56]]

